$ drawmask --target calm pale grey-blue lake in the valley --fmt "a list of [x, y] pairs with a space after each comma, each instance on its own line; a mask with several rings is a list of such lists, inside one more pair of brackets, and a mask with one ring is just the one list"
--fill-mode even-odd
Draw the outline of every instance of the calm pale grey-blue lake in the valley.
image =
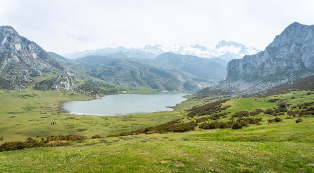
[[119, 94], [109, 95], [97, 100], [64, 102], [63, 111], [85, 115], [124, 115], [130, 113], [151, 113], [173, 110], [165, 106], [175, 106], [187, 100], [179, 94]]

